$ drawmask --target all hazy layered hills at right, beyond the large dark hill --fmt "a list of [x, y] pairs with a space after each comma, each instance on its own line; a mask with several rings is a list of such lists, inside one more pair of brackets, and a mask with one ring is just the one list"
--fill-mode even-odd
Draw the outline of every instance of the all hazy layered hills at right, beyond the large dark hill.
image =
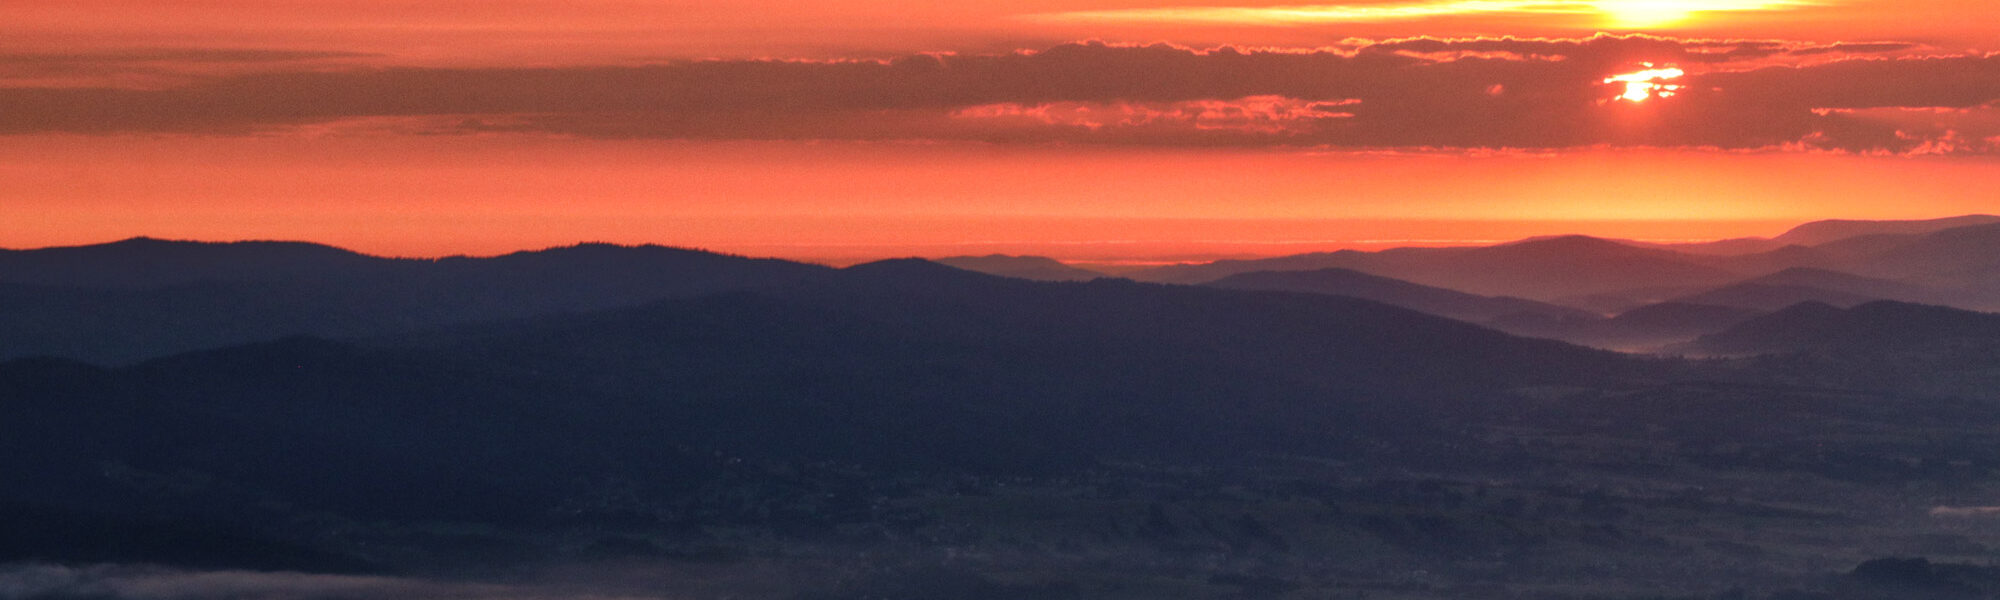
[[1218, 260], [1128, 276], [1354, 296], [1520, 336], [1658, 350], [1800, 302], [1992, 310], [2000, 306], [2000, 268], [1988, 258], [1996, 248], [2000, 218], [1976, 214], [1810, 222], [1776, 238], [1712, 244], [1552, 236]]

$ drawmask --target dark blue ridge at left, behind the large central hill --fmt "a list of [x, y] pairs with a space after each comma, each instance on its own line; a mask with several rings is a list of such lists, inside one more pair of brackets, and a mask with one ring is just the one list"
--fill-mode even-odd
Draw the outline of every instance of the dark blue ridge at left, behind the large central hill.
[[394, 260], [290, 242], [162, 242], [0, 254], [0, 358], [124, 364], [280, 336], [380, 336], [790, 284], [822, 266], [580, 244]]

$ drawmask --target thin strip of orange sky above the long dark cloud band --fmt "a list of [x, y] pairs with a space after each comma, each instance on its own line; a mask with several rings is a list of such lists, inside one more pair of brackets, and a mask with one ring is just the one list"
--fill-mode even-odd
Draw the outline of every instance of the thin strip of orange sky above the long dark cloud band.
[[[1468, 12], [1308, 24], [1064, 22], [1050, 14], [1148, 8], [1422, 6], [1428, 0], [64, 0], [0, 6], [0, 48], [310, 48], [390, 62], [550, 64], [698, 56], [894, 56], [1124, 42], [1318, 46], [1340, 38], [1574, 36], [1620, 28], [1610, 12]], [[1810, 0], [1784, 10], [1702, 12], [1644, 28], [1680, 36], [1920, 40], [2000, 46], [1986, 0]]]

